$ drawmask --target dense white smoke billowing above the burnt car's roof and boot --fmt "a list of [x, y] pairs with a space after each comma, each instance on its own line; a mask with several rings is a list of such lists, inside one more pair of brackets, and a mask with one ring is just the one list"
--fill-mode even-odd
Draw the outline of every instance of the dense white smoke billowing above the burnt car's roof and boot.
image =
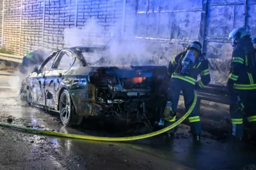
[[108, 66], [125, 66], [131, 65], [132, 62], [146, 64], [152, 59], [153, 53], [148, 50], [149, 46], [145, 41], [122, 39], [118, 27], [105, 31], [104, 26], [97, 23], [97, 19], [92, 18], [82, 29], [65, 29], [65, 46], [108, 45], [109, 50], [104, 54], [105, 56], [84, 53], [89, 63], [96, 62], [100, 57], [106, 57], [106, 61], [102, 64]]

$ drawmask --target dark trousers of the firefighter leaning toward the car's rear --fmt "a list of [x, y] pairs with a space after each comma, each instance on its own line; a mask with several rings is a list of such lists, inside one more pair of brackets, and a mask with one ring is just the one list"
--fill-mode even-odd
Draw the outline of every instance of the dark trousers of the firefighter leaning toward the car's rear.
[[[184, 97], [184, 104], [186, 111], [191, 107], [194, 97], [195, 97], [195, 85], [189, 83], [188, 81], [181, 80], [179, 78], [171, 78], [170, 89], [168, 90], [168, 95], [173, 103], [172, 110], [173, 113], [177, 112], [177, 106], [179, 103], [180, 91], [182, 91]], [[189, 123], [191, 124], [191, 132], [193, 134], [200, 134], [202, 131], [202, 125], [200, 122], [200, 117], [198, 115], [198, 107], [195, 106], [191, 114], [189, 115]], [[176, 116], [168, 118], [166, 126], [171, 125], [175, 122]], [[173, 132], [172, 129], [168, 132]]]

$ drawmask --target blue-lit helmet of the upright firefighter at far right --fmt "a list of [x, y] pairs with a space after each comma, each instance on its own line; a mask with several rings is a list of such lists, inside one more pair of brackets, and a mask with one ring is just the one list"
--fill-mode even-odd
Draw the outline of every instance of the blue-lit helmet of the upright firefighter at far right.
[[237, 43], [245, 36], [250, 36], [249, 32], [243, 27], [233, 29], [228, 35], [228, 39], [232, 39], [232, 46], [236, 46]]

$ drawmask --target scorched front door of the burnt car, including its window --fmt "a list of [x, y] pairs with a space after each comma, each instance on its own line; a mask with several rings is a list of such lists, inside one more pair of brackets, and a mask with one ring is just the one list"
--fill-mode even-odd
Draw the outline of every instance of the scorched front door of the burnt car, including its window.
[[52, 53], [39, 67], [38, 73], [33, 73], [30, 77], [29, 87], [31, 87], [31, 102], [33, 104], [45, 106], [45, 74], [51, 70], [55, 53]]

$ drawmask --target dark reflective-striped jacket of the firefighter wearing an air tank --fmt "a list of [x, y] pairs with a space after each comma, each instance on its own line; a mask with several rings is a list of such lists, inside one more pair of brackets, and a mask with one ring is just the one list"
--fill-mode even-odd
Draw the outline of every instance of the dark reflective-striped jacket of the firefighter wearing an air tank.
[[[168, 66], [169, 76], [188, 81], [189, 83], [196, 85], [196, 89], [209, 84], [211, 81], [208, 65], [209, 62], [202, 54], [196, 58], [195, 64], [193, 65], [193, 68], [189, 69], [189, 74], [187, 76], [180, 74], [182, 69], [182, 60], [185, 55], [186, 51], [179, 53], [173, 60], [170, 61]], [[198, 75], [200, 75], [201, 79], [197, 81]]]

